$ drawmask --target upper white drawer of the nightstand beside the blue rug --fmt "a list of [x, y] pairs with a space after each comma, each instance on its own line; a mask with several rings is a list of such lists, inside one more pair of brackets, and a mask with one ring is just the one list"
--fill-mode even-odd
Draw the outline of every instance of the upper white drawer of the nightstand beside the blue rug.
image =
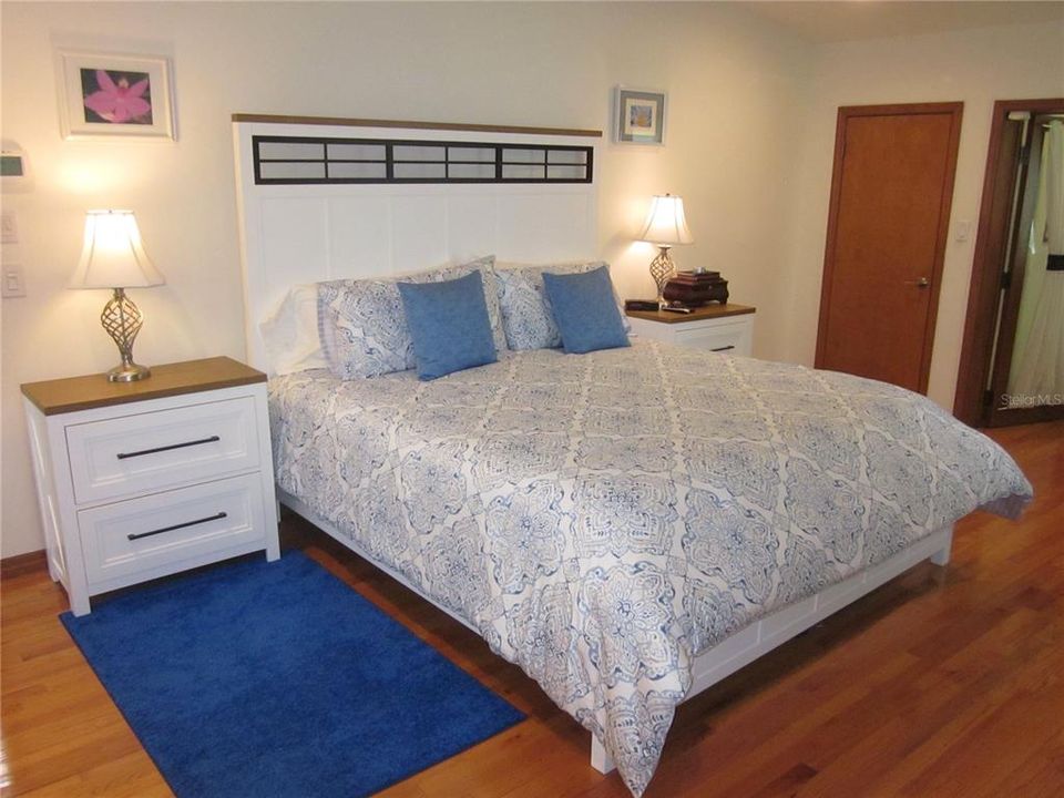
[[250, 397], [73, 424], [66, 446], [79, 504], [214, 479], [259, 462]]

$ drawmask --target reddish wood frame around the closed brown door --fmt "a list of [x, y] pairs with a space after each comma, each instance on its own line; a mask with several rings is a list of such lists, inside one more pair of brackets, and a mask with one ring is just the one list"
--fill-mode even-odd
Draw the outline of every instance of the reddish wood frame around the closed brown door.
[[943, 185], [951, 186], [942, 193], [939, 206], [939, 225], [934, 242], [934, 259], [931, 266], [931, 296], [928, 304], [928, 319], [923, 330], [923, 351], [920, 355], [921, 393], [928, 392], [931, 375], [931, 352], [934, 347], [934, 326], [939, 314], [939, 291], [942, 287], [942, 266], [945, 262], [945, 245], [949, 238], [950, 211], [953, 207], [954, 177], [956, 176], [956, 153], [961, 141], [961, 120], [964, 114], [963, 102], [903, 103], [891, 105], [842, 105], [839, 108], [835, 126], [835, 163], [831, 167], [831, 203], [828, 208], [828, 232], [823, 247], [823, 276], [820, 283], [820, 317], [817, 328], [817, 355], [815, 366], [822, 368], [827, 349], [828, 313], [831, 307], [831, 279], [835, 276], [835, 241], [839, 221], [839, 200], [842, 194], [842, 163], [846, 157], [846, 125], [855, 116], [914, 116], [921, 114], [950, 114], [950, 142], [947, 151], [947, 170]]

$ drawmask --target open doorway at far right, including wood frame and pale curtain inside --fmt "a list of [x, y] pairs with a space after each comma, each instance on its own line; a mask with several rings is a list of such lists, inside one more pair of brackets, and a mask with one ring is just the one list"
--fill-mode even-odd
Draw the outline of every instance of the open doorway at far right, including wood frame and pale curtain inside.
[[973, 427], [1064, 418], [1064, 98], [994, 103], [954, 397]]

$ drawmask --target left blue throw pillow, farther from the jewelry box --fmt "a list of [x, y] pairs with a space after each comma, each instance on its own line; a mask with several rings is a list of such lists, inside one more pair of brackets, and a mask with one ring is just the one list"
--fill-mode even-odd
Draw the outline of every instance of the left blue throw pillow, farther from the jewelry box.
[[399, 283], [399, 296], [423, 380], [495, 362], [480, 272], [442, 283]]

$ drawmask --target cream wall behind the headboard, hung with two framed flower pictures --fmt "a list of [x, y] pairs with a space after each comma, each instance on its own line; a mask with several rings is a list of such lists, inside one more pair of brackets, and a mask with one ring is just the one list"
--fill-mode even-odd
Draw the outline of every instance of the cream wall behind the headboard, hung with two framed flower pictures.
[[[696, 244], [757, 305], [755, 348], [788, 354], [784, 219], [810, 48], [730, 4], [13, 3], [2, 14], [2, 135], [29, 155], [18, 213], [29, 296], [2, 314], [2, 555], [42, 548], [19, 383], [116, 359], [101, 291], [64, 289], [83, 214], [133, 208], [166, 276], [135, 291], [151, 365], [244, 351], [234, 112], [608, 130], [617, 83], [668, 92], [667, 145], [604, 145], [600, 229], [622, 294], [651, 294], [631, 236], [655, 193], [685, 197]], [[173, 57], [176, 144], [65, 142], [53, 48]], [[830, 166], [830, 164], [829, 164]], [[815, 310], [815, 309], [814, 309]]]

